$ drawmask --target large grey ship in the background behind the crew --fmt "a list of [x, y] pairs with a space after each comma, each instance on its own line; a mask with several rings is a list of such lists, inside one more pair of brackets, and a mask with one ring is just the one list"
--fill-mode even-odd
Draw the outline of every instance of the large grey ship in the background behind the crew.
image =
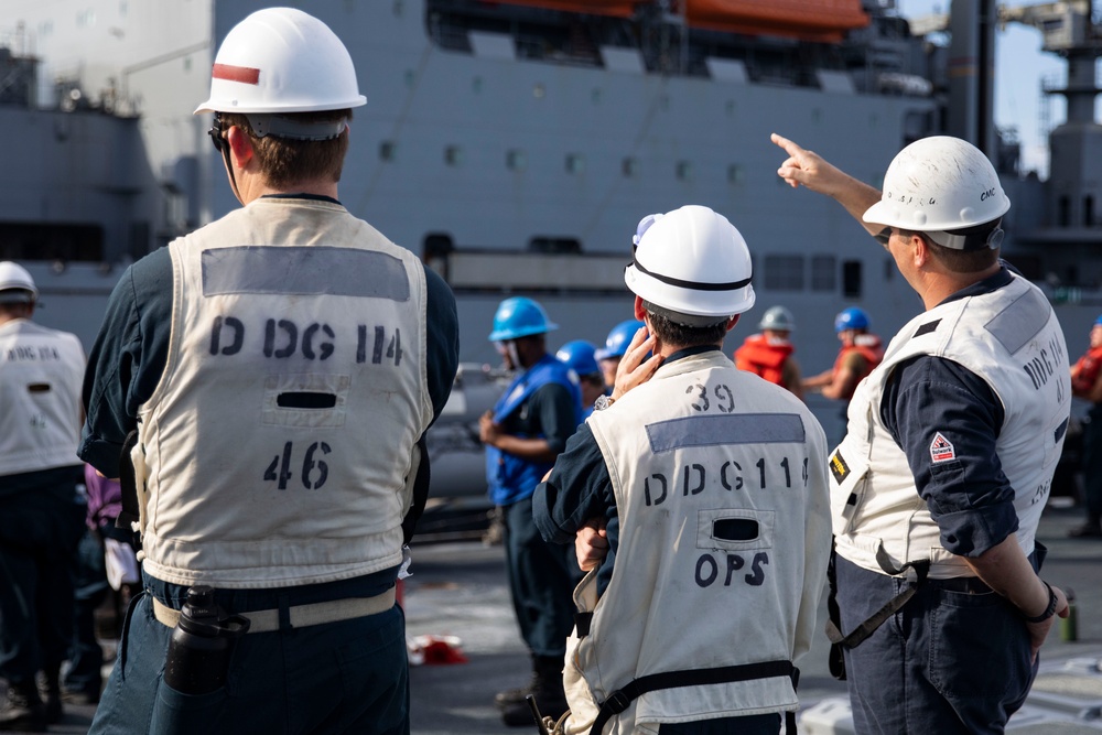
[[[238, 206], [205, 134], [209, 119], [192, 110], [220, 39], [258, 4], [17, 4], [28, 39], [17, 55], [41, 60], [37, 97], [52, 109], [0, 107], [0, 129], [32, 129], [14, 136], [19, 171], [50, 173], [3, 174], [14, 196], [0, 198], [0, 255], [39, 260], [29, 266], [62, 305], [44, 318], [87, 341], [97, 307], [76, 310], [93, 326], [67, 323], [80, 302], [66, 289], [102, 296], [120, 264]], [[368, 98], [353, 122], [342, 202], [449, 280], [464, 360], [494, 358], [488, 325], [511, 293], [547, 306], [563, 325], [553, 338], [602, 341], [630, 315], [623, 267], [636, 223], [687, 203], [722, 212], [744, 234], [758, 303], [793, 311], [806, 369], [832, 360], [831, 321], [846, 305], [894, 333], [920, 309], [917, 298], [840, 207], [782, 184], [774, 131], [873, 185], [918, 138], [949, 131], [984, 144], [1014, 202], [1006, 257], [1057, 301], [1078, 298], [1060, 305], [1072, 350], [1100, 307], [1091, 295], [1102, 280], [1102, 221], [1084, 188], [1100, 180], [1102, 159], [1089, 155], [1096, 126], [1069, 120], [1068, 134], [1054, 136], [1051, 183], [1019, 174], [990, 122], [993, 0], [954, 3], [950, 47], [914, 35], [879, 0], [316, 0], [306, 9], [342, 36]], [[1072, 51], [1096, 43], [1090, 18], [1089, 3], [1052, 3], [1035, 23], [1050, 50], [1061, 51], [1054, 44], [1065, 34], [1074, 99], [1095, 91], [1093, 66], [1076, 61], [1087, 52]], [[60, 138], [78, 122], [106, 129]], [[1069, 170], [1078, 184], [1067, 183]], [[1056, 193], [1067, 186], [1074, 191]], [[60, 198], [78, 190], [84, 209]], [[10, 249], [11, 231], [57, 223], [96, 229], [101, 245], [41, 258], [31, 240]], [[753, 328], [746, 322], [732, 342]]]

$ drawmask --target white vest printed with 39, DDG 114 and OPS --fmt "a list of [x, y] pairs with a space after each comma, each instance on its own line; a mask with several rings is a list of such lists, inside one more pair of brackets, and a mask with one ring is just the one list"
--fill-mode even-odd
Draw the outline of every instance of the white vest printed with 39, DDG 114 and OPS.
[[[568, 733], [652, 673], [795, 661], [810, 648], [830, 552], [827, 440], [782, 388], [704, 353], [588, 419], [619, 516], [608, 588], [574, 593], [593, 612], [568, 642]], [[796, 710], [788, 677], [656, 690], [606, 734], [661, 723]]]

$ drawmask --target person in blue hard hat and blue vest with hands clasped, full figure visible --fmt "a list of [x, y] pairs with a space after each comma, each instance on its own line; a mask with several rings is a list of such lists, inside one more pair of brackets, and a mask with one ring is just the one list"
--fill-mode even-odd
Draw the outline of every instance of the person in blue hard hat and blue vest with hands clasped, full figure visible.
[[498, 306], [489, 335], [506, 367], [518, 371], [494, 410], [480, 418], [479, 433], [490, 499], [504, 510], [509, 588], [533, 670], [530, 685], [496, 698], [507, 725], [532, 724], [528, 694], [547, 714], [566, 710], [562, 662], [574, 625], [571, 594], [581, 574], [566, 550], [543, 541], [532, 522], [532, 493], [581, 420], [576, 376], [547, 352], [544, 335], [557, 328], [540, 304], [518, 296]]

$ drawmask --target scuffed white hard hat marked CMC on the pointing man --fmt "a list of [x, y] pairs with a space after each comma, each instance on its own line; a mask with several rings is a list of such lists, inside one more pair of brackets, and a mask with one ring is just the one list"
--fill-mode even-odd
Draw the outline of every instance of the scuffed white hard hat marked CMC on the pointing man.
[[[863, 219], [937, 235], [997, 224], [1009, 208], [1011, 201], [987, 156], [968, 141], [933, 136], [915, 141], [892, 160], [884, 174], [882, 198]], [[951, 248], [966, 247], [963, 236], [931, 239]], [[980, 245], [997, 247], [990, 241]]]

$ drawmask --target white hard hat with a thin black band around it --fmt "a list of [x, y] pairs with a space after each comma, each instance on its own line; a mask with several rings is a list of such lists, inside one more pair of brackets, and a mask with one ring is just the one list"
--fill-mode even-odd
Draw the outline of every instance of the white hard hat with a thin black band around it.
[[689, 325], [714, 324], [754, 305], [746, 240], [726, 217], [698, 205], [639, 223], [624, 282], [649, 304], [674, 312], [674, 321], [689, 317], [680, 320]]

